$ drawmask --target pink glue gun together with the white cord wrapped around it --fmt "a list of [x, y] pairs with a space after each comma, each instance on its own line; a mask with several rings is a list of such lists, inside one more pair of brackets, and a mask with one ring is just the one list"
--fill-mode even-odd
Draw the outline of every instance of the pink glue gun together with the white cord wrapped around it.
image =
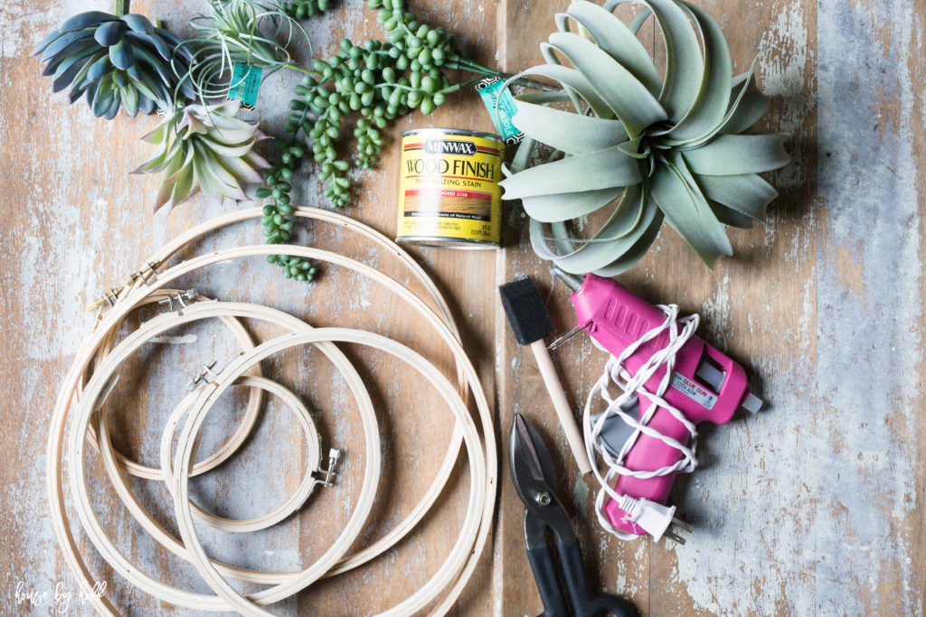
[[[584, 281], [554, 269], [573, 290], [578, 325], [554, 343], [582, 330], [611, 354], [589, 393], [583, 432], [594, 475], [601, 483], [595, 503], [599, 523], [622, 539], [649, 534], [684, 542], [670, 529], [687, 525], [667, 506], [672, 480], [697, 466], [699, 422], [728, 422], [739, 407], [762, 405], [743, 367], [694, 336], [698, 315], [679, 317], [674, 304], [652, 306], [609, 278]], [[611, 383], [622, 392], [613, 396]], [[607, 403], [593, 414], [598, 397]], [[607, 471], [594, 464], [600, 459]]]

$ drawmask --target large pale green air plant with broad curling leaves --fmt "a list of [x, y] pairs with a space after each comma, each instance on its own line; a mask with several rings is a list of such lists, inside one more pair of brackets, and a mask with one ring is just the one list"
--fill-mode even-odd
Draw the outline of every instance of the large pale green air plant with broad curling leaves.
[[[627, 26], [612, 13], [624, 1], [577, 0], [557, 15], [557, 32], [541, 45], [547, 64], [524, 74], [562, 91], [517, 97], [514, 122], [530, 139], [502, 182], [505, 197], [524, 204], [534, 251], [567, 272], [625, 271], [663, 218], [712, 267], [732, 254], [725, 225], [764, 220], [777, 193], [757, 174], [788, 162], [785, 136], [748, 133], [768, 99], [752, 68], [732, 78], [727, 43], [704, 9], [644, 0]], [[663, 78], [636, 36], [651, 16], [665, 41]], [[563, 156], [525, 168], [536, 142]], [[573, 235], [604, 208], [600, 228]]]

